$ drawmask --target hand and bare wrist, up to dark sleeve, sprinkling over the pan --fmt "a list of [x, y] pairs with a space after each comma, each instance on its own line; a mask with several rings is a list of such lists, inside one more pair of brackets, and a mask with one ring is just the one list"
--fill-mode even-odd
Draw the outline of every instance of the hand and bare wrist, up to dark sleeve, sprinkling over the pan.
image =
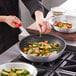
[[49, 22], [44, 19], [43, 13], [41, 11], [35, 12], [36, 16], [36, 25], [38, 26], [38, 30], [40, 33], [47, 34], [51, 31], [51, 26]]

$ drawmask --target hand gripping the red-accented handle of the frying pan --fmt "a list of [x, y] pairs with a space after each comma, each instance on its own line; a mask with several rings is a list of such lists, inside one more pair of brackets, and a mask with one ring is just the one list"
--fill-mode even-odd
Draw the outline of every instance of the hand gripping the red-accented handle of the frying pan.
[[4, 22], [13, 28], [18, 27], [17, 24], [21, 24], [21, 21], [16, 16], [4, 16]]

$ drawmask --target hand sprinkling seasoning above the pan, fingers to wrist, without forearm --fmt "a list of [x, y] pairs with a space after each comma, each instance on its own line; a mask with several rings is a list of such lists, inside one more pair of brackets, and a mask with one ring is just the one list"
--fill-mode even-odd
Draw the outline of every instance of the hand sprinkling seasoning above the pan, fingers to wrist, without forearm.
[[36, 20], [36, 24], [38, 26], [39, 32], [41, 32], [43, 34], [47, 34], [51, 31], [51, 26], [50, 26], [49, 22], [45, 19]]

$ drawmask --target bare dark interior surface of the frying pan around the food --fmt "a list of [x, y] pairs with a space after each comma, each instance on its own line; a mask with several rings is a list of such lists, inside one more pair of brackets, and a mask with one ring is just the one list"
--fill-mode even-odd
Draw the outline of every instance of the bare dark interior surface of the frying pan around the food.
[[23, 49], [28, 46], [27, 43], [41, 42], [41, 41], [49, 41], [52, 43], [58, 43], [60, 47], [60, 51], [63, 50], [65, 47], [65, 41], [59, 36], [52, 35], [52, 34], [42, 34], [42, 37], [40, 37], [39, 34], [34, 34], [34, 35], [27, 36], [23, 40], [21, 40], [19, 44], [19, 48], [21, 51], [23, 51]]

